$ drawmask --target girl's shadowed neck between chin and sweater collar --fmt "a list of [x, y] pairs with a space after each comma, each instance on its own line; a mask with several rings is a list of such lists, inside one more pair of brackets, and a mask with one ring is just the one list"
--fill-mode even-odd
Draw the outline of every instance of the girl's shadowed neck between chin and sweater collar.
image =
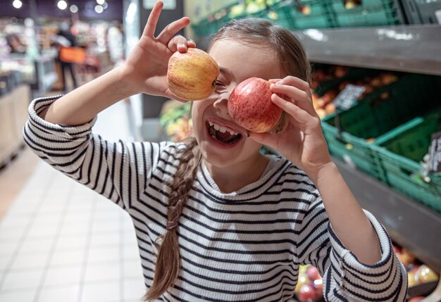
[[205, 161], [205, 165], [221, 192], [231, 193], [259, 180], [268, 161], [268, 157], [259, 153], [256, 158], [228, 167], [219, 168], [208, 161]]

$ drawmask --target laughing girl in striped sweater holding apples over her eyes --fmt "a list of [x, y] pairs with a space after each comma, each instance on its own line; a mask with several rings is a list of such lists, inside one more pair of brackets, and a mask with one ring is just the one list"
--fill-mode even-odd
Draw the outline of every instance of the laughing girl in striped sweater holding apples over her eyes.
[[[194, 139], [113, 143], [92, 134], [97, 113], [167, 89], [168, 58], [194, 42], [154, 37], [151, 11], [125, 65], [61, 97], [30, 106], [24, 135], [44, 161], [126, 210], [135, 226], [146, 301], [288, 301], [299, 265], [316, 265], [327, 301], [404, 301], [406, 271], [373, 215], [362, 210], [330, 160], [311, 103], [302, 46], [266, 20], [221, 29], [209, 54], [221, 68], [216, 92], [194, 101]], [[228, 115], [232, 89], [271, 80], [289, 115], [280, 134], [251, 133]], [[181, 100], [182, 101], [182, 100]], [[283, 156], [259, 153], [262, 144]]]

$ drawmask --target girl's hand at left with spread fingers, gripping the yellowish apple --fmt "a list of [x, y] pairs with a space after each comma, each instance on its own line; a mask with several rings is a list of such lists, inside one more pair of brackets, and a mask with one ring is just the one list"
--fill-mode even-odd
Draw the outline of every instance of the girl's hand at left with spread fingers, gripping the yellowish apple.
[[162, 8], [163, 3], [158, 1], [151, 10], [142, 37], [123, 65], [121, 77], [130, 94], [142, 92], [184, 101], [167, 87], [168, 59], [175, 51], [185, 53], [188, 47], [196, 47], [196, 44], [180, 35], [175, 36], [190, 23], [187, 17], [170, 23], [154, 37]]

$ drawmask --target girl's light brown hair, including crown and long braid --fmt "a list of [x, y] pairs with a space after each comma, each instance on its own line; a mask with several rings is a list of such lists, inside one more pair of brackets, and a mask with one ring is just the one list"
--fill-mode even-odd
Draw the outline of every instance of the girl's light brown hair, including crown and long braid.
[[[233, 20], [213, 36], [209, 49], [221, 39], [234, 39], [249, 44], [269, 46], [278, 54], [280, 66], [287, 75], [294, 75], [306, 82], [310, 81], [311, 66], [305, 51], [299, 40], [283, 27], [259, 18]], [[186, 139], [184, 144], [186, 147], [180, 156], [178, 171], [168, 197], [166, 233], [155, 242], [159, 247], [158, 258], [153, 284], [145, 294], [144, 301], [159, 298], [173, 285], [179, 274], [180, 252], [176, 228], [202, 157], [194, 137]]]

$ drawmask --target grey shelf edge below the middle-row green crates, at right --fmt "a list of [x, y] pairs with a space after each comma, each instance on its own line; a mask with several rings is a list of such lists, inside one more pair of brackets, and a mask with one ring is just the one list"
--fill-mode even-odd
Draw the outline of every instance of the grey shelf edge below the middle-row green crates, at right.
[[361, 206], [380, 220], [392, 240], [440, 272], [441, 215], [350, 165], [335, 158], [333, 161]]

